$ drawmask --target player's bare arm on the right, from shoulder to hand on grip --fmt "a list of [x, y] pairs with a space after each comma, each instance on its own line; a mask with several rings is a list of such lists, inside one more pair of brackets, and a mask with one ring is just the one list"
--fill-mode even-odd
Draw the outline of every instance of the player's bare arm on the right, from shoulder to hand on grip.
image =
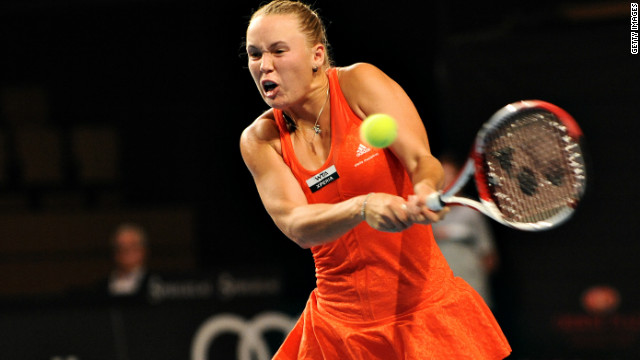
[[398, 123], [398, 137], [390, 146], [402, 162], [414, 185], [415, 196], [408, 208], [415, 222], [440, 220], [448, 211], [430, 211], [425, 204], [429, 194], [443, 186], [443, 170], [431, 154], [427, 132], [418, 111], [398, 83], [377, 67], [358, 63], [340, 70], [340, 86], [353, 111], [362, 119], [383, 113]]

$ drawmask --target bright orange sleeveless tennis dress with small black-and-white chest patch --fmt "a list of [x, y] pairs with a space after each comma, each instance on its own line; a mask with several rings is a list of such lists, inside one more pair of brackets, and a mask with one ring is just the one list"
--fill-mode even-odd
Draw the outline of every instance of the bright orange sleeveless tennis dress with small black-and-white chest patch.
[[[413, 186], [389, 151], [366, 146], [337, 71], [328, 71], [331, 151], [320, 169], [297, 161], [275, 109], [282, 156], [309, 203], [337, 203], [370, 192], [407, 197]], [[482, 298], [454, 278], [431, 227], [399, 233], [362, 222], [311, 248], [317, 287], [274, 359], [502, 359], [511, 352]]]

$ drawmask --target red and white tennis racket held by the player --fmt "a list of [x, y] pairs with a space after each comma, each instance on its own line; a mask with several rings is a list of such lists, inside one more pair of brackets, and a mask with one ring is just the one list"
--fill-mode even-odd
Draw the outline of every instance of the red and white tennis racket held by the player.
[[[586, 187], [582, 131], [566, 111], [540, 100], [509, 104], [478, 132], [456, 180], [427, 206], [464, 205], [526, 231], [554, 228], [571, 217]], [[457, 196], [471, 176], [479, 201]]]

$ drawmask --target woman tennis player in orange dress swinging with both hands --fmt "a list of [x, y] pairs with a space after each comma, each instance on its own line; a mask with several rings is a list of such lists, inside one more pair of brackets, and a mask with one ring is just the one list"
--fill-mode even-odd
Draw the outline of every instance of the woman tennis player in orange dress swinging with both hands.
[[[240, 145], [267, 212], [313, 253], [317, 287], [274, 359], [502, 359], [511, 348], [482, 298], [454, 278], [424, 199], [442, 186], [417, 110], [370, 64], [335, 67], [309, 6], [251, 17], [249, 71], [270, 107]], [[368, 115], [398, 122], [374, 149]]]

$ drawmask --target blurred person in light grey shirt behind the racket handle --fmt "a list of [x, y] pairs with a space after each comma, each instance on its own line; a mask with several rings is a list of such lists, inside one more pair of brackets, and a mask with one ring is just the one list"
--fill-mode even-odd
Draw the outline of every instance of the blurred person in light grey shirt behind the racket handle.
[[[445, 188], [457, 177], [462, 164], [452, 155], [440, 157]], [[452, 206], [433, 233], [456, 276], [466, 280], [493, 307], [490, 275], [498, 265], [491, 227], [484, 215], [465, 206]]]

